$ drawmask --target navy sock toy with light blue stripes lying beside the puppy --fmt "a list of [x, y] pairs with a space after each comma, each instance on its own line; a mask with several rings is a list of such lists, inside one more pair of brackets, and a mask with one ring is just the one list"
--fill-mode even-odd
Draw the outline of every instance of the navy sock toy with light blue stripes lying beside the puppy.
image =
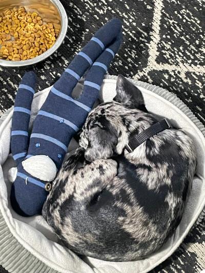
[[[11, 131], [11, 152], [17, 167], [10, 198], [19, 215], [26, 217], [42, 212], [68, 144], [98, 98], [121, 40], [121, 22], [116, 18], [95, 33], [54, 83], [37, 113], [30, 137], [28, 127], [36, 77], [33, 72], [24, 75], [16, 94]], [[73, 99], [72, 91], [88, 69], [83, 93]]]

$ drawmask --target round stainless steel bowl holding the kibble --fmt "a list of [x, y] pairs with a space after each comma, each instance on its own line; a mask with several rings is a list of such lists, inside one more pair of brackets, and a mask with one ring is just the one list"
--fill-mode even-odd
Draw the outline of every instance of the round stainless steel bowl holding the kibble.
[[68, 17], [63, 5], [59, 0], [0, 0], [0, 13], [6, 9], [24, 6], [28, 11], [36, 11], [43, 21], [52, 22], [59, 26], [60, 32], [55, 44], [43, 54], [28, 60], [11, 61], [0, 59], [0, 66], [4, 67], [23, 67], [34, 65], [53, 54], [63, 42], [67, 27]]

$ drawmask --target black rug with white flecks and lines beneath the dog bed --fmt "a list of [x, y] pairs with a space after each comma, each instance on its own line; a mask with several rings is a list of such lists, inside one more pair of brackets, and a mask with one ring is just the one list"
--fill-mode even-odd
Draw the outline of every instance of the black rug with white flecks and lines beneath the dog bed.
[[[68, 32], [59, 50], [34, 69], [37, 90], [52, 85], [94, 31], [112, 17], [124, 25], [124, 44], [109, 73], [123, 74], [174, 92], [205, 125], [203, 0], [61, 0]], [[0, 67], [0, 115], [14, 103], [25, 70]], [[205, 219], [154, 272], [205, 268]], [[6, 272], [1, 269], [0, 272]], [[109, 272], [108, 272], [109, 273]]]

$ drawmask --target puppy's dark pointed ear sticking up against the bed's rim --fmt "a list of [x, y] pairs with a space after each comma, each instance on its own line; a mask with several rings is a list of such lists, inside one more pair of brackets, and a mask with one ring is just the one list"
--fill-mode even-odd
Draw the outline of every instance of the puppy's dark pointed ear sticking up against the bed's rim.
[[114, 101], [123, 104], [127, 108], [148, 112], [141, 91], [122, 75], [117, 77], [116, 92], [117, 95], [114, 97]]

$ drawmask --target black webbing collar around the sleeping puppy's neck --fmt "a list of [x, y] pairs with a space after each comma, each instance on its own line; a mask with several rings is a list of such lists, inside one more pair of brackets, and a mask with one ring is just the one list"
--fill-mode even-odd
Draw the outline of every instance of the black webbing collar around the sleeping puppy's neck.
[[166, 129], [170, 129], [171, 127], [172, 126], [169, 123], [169, 121], [166, 118], [164, 118], [158, 121], [157, 123], [151, 125], [148, 129], [141, 132], [140, 134], [131, 137], [129, 143], [125, 145], [125, 148], [129, 153], [132, 153], [141, 143], [145, 142], [150, 137]]

